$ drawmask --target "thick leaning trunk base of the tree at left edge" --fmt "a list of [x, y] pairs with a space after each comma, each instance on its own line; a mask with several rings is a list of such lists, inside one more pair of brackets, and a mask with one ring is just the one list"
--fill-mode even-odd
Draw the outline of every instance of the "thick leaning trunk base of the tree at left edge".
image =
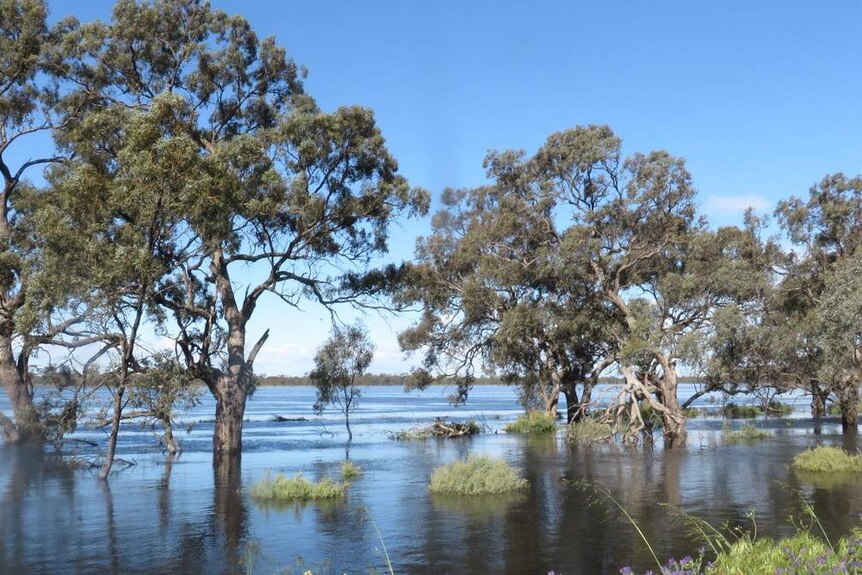
[[[0, 331], [7, 330], [0, 328]], [[3, 440], [9, 443], [40, 443], [46, 436], [33, 396], [27, 389], [25, 375], [19, 371], [15, 361], [11, 334], [0, 333], [0, 379], [3, 380], [3, 387], [9, 396], [15, 417], [14, 423], [6, 416], [0, 417]]]

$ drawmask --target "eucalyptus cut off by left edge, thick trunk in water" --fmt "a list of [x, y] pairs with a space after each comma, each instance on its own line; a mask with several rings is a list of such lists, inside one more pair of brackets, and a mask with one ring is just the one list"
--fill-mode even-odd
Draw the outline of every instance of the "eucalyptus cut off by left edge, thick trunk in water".
[[12, 442], [47, 436], [29, 362], [42, 342], [74, 323], [46, 323], [39, 307], [46, 302], [29, 290], [39, 264], [33, 208], [48, 193], [29, 178], [64, 159], [50, 133], [74, 119], [85, 100], [70, 97], [60, 80], [72, 57], [61, 46], [75, 23], [49, 27], [46, 18], [43, 1], [0, 1], [0, 379], [13, 412], [13, 418], [0, 412], [0, 437]]

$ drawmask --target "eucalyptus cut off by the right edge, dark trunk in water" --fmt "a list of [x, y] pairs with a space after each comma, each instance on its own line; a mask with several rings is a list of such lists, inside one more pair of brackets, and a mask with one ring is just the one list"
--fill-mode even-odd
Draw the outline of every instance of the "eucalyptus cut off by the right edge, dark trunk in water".
[[784, 340], [787, 369], [798, 371], [798, 350], [804, 349], [808, 389], [815, 398], [834, 396], [844, 432], [855, 434], [860, 376], [852, 368], [856, 352], [847, 343], [853, 330], [840, 317], [852, 312], [853, 303], [837, 305], [835, 293], [845, 289], [841, 283], [849, 279], [847, 270], [862, 245], [862, 177], [826, 176], [807, 199], [779, 203], [776, 215], [798, 250], [779, 287], [782, 310], [797, 327], [797, 337]]

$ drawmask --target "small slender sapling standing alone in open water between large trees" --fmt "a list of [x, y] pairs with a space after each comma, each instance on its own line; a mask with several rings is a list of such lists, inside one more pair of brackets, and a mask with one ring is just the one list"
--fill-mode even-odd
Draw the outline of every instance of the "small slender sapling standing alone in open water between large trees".
[[373, 358], [374, 344], [362, 326], [335, 326], [329, 339], [317, 350], [314, 369], [308, 374], [317, 388], [314, 411], [321, 414], [327, 405], [337, 405], [344, 414], [347, 441], [353, 440], [350, 412], [362, 395], [356, 378], [365, 374]]

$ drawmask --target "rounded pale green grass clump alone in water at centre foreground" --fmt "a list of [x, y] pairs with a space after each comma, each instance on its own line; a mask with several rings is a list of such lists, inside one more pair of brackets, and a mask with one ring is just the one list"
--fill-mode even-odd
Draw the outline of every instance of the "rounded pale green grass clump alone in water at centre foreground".
[[487, 455], [471, 455], [443, 465], [431, 474], [431, 493], [443, 495], [491, 495], [526, 489], [529, 482], [505, 461]]

